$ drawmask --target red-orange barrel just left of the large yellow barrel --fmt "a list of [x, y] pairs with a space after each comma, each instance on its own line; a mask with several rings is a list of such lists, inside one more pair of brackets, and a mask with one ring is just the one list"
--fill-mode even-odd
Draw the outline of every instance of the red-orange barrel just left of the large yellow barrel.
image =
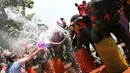
[[87, 49], [80, 48], [74, 51], [74, 56], [76, 58], [76, 62], [83, 72], [88, 72], [93, 69], [93, 59], [88, 53]]

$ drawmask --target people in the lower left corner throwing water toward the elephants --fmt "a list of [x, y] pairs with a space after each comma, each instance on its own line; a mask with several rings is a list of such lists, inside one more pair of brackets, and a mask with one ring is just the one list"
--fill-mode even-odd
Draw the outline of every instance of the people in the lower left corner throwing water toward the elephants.
[[[40, 44], [40, 43], [39, 43]], [[34, 59], [34, 57], [41, 51], [44, 51], [43, 44], [35, 46], [35, 48], [25, 56], [27, 52], [27, 46], [24, 47], [24, 53], [22, 55], [17, 55], [15, 53], [5, 50], [1, 56], [4, 56], [6, 61], [0, 64], [0, 73], [28, 73], [25, 68], [25, 63]], [[34, 73], [34, 72], [29, 72]]]

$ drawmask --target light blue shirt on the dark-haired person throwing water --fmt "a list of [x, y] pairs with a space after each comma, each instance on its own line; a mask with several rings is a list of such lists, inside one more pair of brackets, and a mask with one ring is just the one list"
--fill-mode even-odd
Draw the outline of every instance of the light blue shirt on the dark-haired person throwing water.
[[20, 61], [14, 62], [10, 66], [8, 73], [20, 73]]

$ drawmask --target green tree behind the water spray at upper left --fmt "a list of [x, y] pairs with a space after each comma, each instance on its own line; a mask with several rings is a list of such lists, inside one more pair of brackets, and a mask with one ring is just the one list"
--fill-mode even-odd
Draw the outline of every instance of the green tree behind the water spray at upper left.
[[23, 26], [22, 23], [7, 19], [7, 14], [4, 9], [15, 7], [17, 8], [17, 12], [25, 16], [25, 9], [32, 8], [33, 4], [34, 2], [32, 0], [0, 0], [0, 31], [3, 31], [0, 32], [0, 47], [4, 49], [11, 48], [10, 44], [12, 40], [18, 37], [19, 31], [22, 30]]

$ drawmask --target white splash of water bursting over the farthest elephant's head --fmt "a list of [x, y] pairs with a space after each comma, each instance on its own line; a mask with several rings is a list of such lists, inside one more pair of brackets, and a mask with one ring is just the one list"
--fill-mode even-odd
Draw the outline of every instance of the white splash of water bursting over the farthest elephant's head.
[[65, 30], [58, 25], [49, 26], [49, 29], [39, 35], [39, 40], [45, 43], [60, 42], [64, 38]]

